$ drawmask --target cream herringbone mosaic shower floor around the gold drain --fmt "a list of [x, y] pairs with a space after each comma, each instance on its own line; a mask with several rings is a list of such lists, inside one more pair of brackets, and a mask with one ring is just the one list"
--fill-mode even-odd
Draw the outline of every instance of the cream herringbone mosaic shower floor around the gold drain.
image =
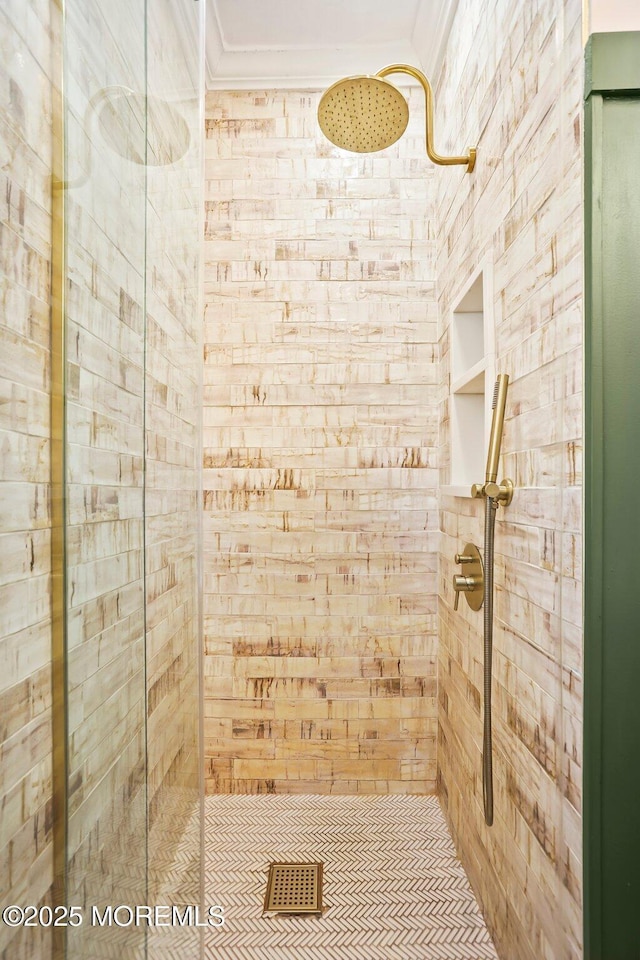
[[[497, 960], [436, 797], [212, 796], [206, 960]], [[262, 914], [271, 861], [322, 861], [324, 913]]]

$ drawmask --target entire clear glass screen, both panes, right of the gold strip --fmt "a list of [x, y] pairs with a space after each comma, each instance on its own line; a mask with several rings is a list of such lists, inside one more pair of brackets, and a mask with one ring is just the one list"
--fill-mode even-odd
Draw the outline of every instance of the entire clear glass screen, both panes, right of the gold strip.
[[[65, 5], [66, 894], [85, 916], [66, 956], [78, 960], [199, 955], [197, 927], [156, 933], [126, 907], [200, 900], [202, 8]], [[119, 905], [120, 922], [91, 915]]]

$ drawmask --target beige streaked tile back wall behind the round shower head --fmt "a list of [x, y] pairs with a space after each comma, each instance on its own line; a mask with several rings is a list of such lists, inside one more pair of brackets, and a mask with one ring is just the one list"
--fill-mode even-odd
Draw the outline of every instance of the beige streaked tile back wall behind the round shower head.
[[318, 92], [206, 106], [209, 792], [435, 783], [438, 366], [424, 108], [371, 157]]

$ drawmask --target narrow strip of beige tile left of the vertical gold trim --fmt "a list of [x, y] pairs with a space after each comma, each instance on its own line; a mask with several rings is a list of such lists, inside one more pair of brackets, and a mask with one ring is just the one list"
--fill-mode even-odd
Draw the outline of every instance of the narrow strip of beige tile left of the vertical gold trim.
[[[49, 0], [0, 8], [0, 903], [50, 902]], [[0, 923], [40, 960], [46, 928]]]

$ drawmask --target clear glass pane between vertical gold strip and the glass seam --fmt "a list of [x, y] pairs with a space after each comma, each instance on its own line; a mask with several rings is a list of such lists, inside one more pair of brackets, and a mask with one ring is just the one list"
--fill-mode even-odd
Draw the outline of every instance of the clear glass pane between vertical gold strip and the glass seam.
[[[147, 902], [144, 0], [67, 0], [64, 43], [67, 898], [102, 911]], [[88, 920], [68, 957], [143, 955]]]

